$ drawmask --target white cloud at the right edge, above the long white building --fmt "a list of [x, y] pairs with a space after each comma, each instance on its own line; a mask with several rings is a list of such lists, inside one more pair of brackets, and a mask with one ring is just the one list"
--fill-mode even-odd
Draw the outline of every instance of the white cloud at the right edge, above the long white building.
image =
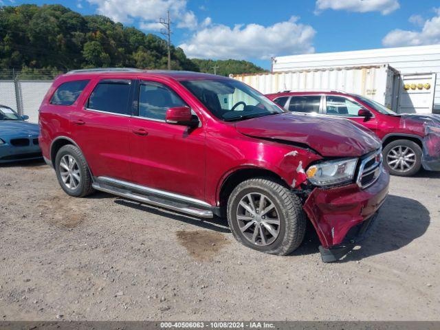
[[433, 45], [440, 43], [440, 8], [434, 8], [437, 16], [427, 19], [421, 31], [396, 29], [388, 32], [382, 44], [388, 47]]

